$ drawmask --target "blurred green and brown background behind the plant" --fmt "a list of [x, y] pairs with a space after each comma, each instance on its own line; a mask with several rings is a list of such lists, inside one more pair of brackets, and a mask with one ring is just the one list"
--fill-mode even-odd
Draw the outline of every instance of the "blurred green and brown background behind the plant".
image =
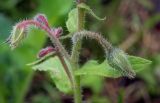
[[[160, 0], [86, 0], [105, 21], [86, 16], [86, 29], [100, 32], [128, 54], [153, 63], [127, 78], [82, 78], [86, 103], [160, 103]], [[0, 43], [10, 35], [17, 22], [44, 13], [53, 27], [62, 26], [75, 7], [75, 0], [0, 0]], [[51, 45], [43, 31], [33, 29], [15, 50], [0, 45], [0, 103], [72, 103], [72, 96], [59, 92], [43, 72], [26, 66], [36, 60], [39, 50]], [[71, 41], [63, 41], [68, 51]], [[95, 46], [97, 45], [97, 46]], [[104, 60], [103, 50], [91, 40], [84, 40], [80, 63], [88, 59]]]

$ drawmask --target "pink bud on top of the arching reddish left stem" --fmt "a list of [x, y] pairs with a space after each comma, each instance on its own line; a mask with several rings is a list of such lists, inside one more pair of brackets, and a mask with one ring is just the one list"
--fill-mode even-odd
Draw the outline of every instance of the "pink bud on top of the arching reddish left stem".
[[49, 27], [48, 20], [44, 14], [38, 14], [34, 17], [34, 20], [39, 22], [42, 25], [45, 25], [47, 28]]

